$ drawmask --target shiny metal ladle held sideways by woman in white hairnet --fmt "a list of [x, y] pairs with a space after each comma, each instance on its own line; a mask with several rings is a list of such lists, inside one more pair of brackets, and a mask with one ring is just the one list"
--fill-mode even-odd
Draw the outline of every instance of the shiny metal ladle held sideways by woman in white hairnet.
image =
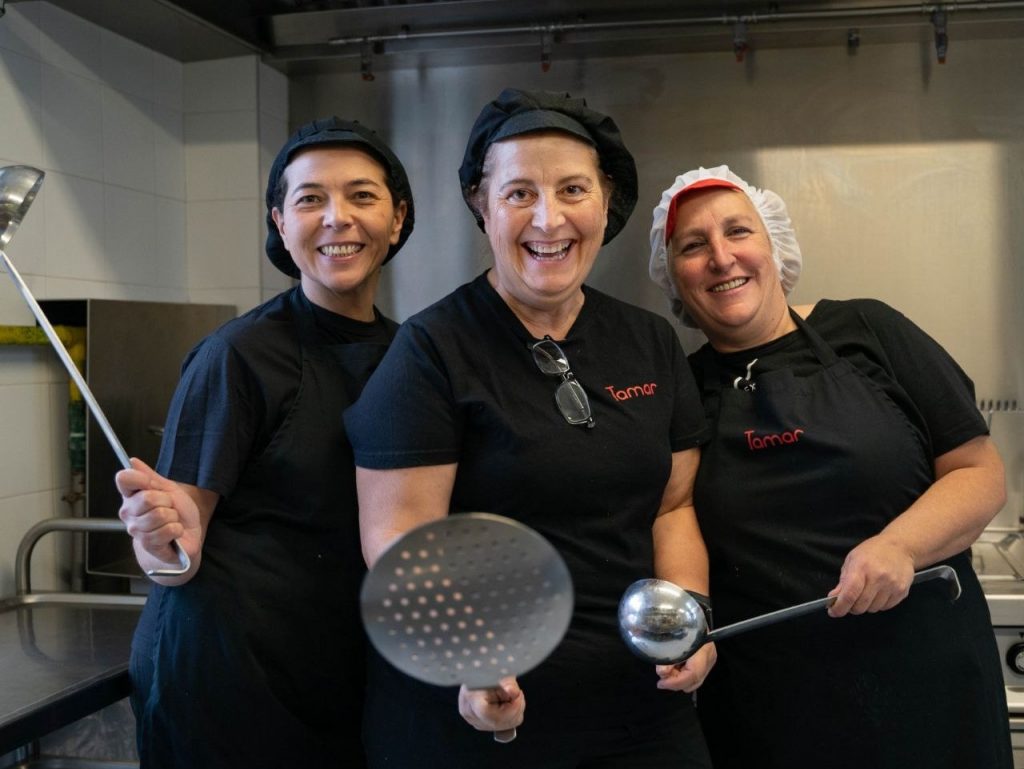
[[[951, 566], [919, 571], [911, 584], [936, 579], [949, 583], [950, 600], [959, 598], [959, 580]], [[626, 645], [641, 659], [654, 665], [676, 665], [707, 643], [826, 609], [835, 602], [835, 596], [818, 598], [709, 631], [703, 609], [685, 590], [666, 580], [638, 580], [627, 588], [618, 602], [618, 630]]]

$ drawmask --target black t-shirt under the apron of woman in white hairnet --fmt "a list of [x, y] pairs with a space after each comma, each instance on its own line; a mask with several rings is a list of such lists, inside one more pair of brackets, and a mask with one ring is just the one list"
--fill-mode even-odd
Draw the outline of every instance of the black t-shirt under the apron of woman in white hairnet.
[[[905, 315], [874, 299], [822, 299], [807, 323], [840, 357], [883, 388], [932, 446], [933, 459], [978, 435], [987, 434], [975, 404], [974, 383], [938, 342]], [[719, 382], [707, 382], [710, 356], [719, 364]], [[745, 376], [790, 368], [796, 376], [814, 371], [818, 361], [799, 331], [758, 347], [722, 354], [710, 344], [690, 355], [693, 375], [706, 393], [731, 387]]]

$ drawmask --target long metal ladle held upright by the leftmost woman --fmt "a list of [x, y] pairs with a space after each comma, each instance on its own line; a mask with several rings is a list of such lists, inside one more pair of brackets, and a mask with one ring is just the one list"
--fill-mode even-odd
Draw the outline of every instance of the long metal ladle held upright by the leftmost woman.
[[[11, 262], [10, 257], [7, 256], [7, 244], [14, 236], [14, 231], [22, 223], [26, 213], [28, 213], [32, 202], [36, 199], [36, 194], [43, 183], [43, 176], [45, 174], [42, 171], [32, 166], [5, 166], [0, 168], [0, 259], [6, 265], [10, 279], [14, 282], [25, 301], [28, 302], [32, 314], [36, 316], [36, 321], [39, 322], [39, 326], [46, 334], [46, 338], [50, 340], [50, 344], [57, 353], [57, 357], [60, 358], [60, 362], [68, 370], [68, 375], [78, 385], [78, 389], [82, 392], [82, 397], [85, 398], [89, 411], [92, 412], [92, 416], [103, 431], [103, 435], [106, 436], [111, 447], [118, 456], [121, 466], [126, 470], [130, 470], [131, 462], [128, 460], [128, 454], [125, 452], [124, 446], [121, 445], [121, 441], [118, 440], [118, 436], [114, 433], [114, 428], [111, 427], [111, 423], [103, 414], [103, 410], [99, 408], [99, 403], [96, 402], [92, 390], [85, 383], [85, 378], [79, 372], [78, 367], [75, 366], [75, 361], [71, 359], [71, 355], [68, 354], [68, 350], [65, 348], [60, 338], [57, 337], [56, 332], [53, 331], [53, 327], [46, 318], [43, 308], [39, 306], [39, 302], [36, 301], [32, 292], [29, 291], [29, 287], [22, 279], [17, 268]], [[174, 549], [178, 555], [180, 568], [150, 569], [145, 573], [151, 576], [178, 576], [191, 568], [191, 561], [188, 558], [188, 554], [177, 541], [174, 541]]]

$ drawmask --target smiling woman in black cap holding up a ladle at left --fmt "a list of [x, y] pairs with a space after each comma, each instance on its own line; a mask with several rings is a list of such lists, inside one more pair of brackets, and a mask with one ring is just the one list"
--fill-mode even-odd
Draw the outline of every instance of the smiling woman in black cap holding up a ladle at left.
[[[354, 464], [341, 413], [394, 336], [381, 265], [413, 228], [401, 163], [330, 118], [282, 147], [266, 253], [293, 288], [185, 361], [157, 472], [118, 473], [156, 578], [131, 675], [143, 769], [365, 766]], [[336, 415], [334, 419], [331, 415]], [[346, 470], [347, 468], [347, 470]]]

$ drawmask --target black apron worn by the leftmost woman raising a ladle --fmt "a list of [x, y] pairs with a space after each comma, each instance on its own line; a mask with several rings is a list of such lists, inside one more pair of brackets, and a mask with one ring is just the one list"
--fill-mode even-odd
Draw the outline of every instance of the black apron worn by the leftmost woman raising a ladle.
[[334, 342], [298, 292], [293, 307], [295, 401], [218, 505], [199, 572], [148, 601], [143, 769], [365, 766], [365, 565], [341, 415], [386, 345]]

